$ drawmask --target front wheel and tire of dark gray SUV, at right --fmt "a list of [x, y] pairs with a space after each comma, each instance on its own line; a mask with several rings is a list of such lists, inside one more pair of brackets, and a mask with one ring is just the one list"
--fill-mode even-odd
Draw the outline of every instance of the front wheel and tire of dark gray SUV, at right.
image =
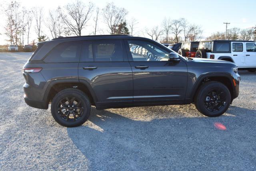
[[231, 102], [228, 87], [220, 82], [207, 82], [199, 87], [196, 94], [194, 99], [196, 109], [208, 117], [222, 115]]

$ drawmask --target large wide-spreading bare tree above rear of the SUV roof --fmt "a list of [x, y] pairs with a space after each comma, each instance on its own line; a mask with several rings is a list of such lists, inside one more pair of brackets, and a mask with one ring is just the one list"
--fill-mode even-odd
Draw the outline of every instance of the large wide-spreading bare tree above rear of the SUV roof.
[[77, 0], [75, 3], [67, 4], [63, 9], [59, 7], [58, 12], [70, 32], [81, 36], [82, 30], [90, 20], [93, 6], [91, 2], [86, 6], [84, 2]]

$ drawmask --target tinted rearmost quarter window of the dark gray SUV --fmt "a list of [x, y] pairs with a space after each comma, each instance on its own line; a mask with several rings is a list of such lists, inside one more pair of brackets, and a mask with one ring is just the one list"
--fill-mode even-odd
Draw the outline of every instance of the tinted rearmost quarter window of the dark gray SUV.
[[64, 42], [55, 46], [44, 62], [79, 62], [80, 42]]

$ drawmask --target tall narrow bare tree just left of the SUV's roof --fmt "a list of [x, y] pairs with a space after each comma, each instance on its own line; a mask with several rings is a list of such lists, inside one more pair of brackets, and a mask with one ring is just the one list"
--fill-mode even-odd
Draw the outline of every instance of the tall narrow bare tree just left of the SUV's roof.
[[38, 35], [38, 40], [40, 39], [42, 32], [42, 22], [43, 22], [43, 8], [42, 7], [34, 7], [32, 8], [32, 13], [34, 14], [34, 18], [36, 20], [36, 34]]

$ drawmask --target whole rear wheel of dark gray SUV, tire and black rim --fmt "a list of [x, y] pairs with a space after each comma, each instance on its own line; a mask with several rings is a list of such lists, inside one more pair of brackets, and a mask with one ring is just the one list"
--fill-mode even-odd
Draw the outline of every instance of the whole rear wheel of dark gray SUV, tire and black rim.
[[65, 127], [82, 125], [90, 116], [90, 111], [90, 100], [88, 96], [79, 89], [64, 89], [57, 93], [52, 99], [52, 117], [56, 122]]

